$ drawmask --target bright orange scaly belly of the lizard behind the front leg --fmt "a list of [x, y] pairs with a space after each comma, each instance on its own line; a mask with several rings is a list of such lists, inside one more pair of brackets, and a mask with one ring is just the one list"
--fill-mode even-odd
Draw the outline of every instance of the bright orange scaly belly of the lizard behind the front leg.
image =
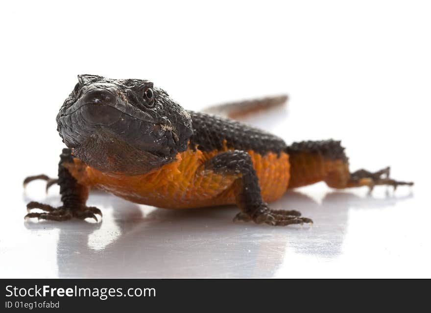
[[[67, 168], [79, 183], [136, 203], [168, 209], [234, 204], [232, 184], [239, 176], [217, 174], [204, 168], [204, 163], [220, 152], [223, 151], [201, 152], [189, 148], [178, 153], [176, 161], [134, 176], [104, 173], [78, 159]], [[287, 190], [290, 177], [287, 153], [248, 153], [259, 177], [263, 200], [269, 202], [280, 198]]]

